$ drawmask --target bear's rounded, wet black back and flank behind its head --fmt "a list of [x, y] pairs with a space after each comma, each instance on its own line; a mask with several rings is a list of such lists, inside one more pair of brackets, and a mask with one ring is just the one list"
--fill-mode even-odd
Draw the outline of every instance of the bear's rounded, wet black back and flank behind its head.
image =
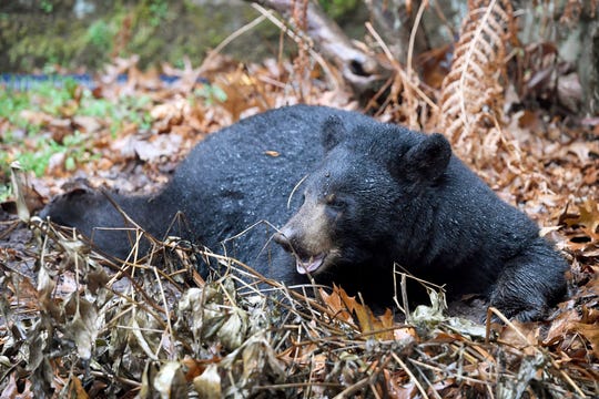
[[331, 115], [348, 125], [372, 123], [356, 112], [309, 105], [250, 116], [197, 144], [159, 202], [174, 202], [166, 208], [182, 211], [192, 238], [213, 250], [250, 228], [225, 248], [252, 262], [274, 233], [268, 225], [281, 227], [301, 205], [302, 195], [292, 194], [324, 155], [321, 127]]

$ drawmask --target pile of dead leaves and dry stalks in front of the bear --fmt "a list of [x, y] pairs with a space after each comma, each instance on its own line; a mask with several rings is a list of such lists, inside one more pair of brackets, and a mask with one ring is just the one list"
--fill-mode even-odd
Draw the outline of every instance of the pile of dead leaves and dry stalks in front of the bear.
[[[597, 392], [599, 285], [590, 266], [573, 267], [581, 286], [548, 324], [448, 317], [435, 290], [399, 324], [341, 288], [285, 287], [185, 243], [156, 243], [148, 257], [123, 263], [90, 252], [71, 229], [39, 218], [30, 226], [35, 275], [0, 270], [2, 398]], [[206, 258], [226, 273], [204, 282], [195, 266]]]

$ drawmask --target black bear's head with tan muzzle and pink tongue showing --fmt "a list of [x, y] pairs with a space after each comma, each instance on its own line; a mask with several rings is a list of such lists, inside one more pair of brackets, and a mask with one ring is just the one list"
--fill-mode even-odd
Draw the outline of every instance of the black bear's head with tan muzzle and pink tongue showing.
[[322, 127], [325, 156], [301, 185], [304, 203], [274, 239], [295, 257], [297, 273], [335, 275], [338, 268], [390, 267], [409, 255], [418, 213], [434, 212], [451, 149], [378, 122], [346, 126], [331, 116]]

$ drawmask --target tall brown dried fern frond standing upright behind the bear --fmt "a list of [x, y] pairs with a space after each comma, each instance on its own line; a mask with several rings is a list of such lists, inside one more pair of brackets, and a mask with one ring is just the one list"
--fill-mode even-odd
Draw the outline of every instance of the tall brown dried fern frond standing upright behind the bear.
[[[487, 134], [501, 121], [506, 44], [512, 37], [512, 9], [507, 0], [468, 2], [468, 14], [460, 29], [451, 70], [440, 95], [440, 125], [460, 155], [475, 163], [495, 155], [499, 144]], [[485, 151], [487, 149], [488, 151]], [[483, 150], [476, 151], [474, 150]]]

